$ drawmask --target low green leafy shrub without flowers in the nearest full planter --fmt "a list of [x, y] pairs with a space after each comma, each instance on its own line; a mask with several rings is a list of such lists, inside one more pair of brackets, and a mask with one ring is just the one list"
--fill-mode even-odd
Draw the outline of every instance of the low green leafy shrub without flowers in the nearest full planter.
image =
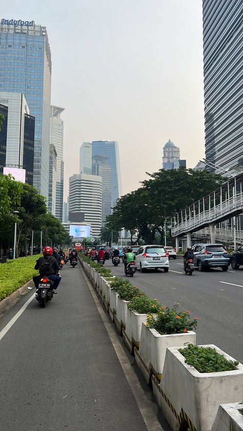
[[185, 362], [199, 373], [231, 371], [235, 370], [239, 363], [238, 361], [227, 360], [216, 349], [194, 346], [194, 344], [188, 344], [186, 348], [179, 349], [179, 352], [185, 357]]

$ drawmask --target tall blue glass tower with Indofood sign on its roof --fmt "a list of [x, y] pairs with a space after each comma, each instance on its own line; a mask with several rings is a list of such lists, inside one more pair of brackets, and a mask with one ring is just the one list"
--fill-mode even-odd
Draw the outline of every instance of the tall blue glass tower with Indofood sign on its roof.
[[46, 27], [1, 19], [0, 92], [23, 93], [35, 117], [33, 185], [48, 198], [51, 51]]

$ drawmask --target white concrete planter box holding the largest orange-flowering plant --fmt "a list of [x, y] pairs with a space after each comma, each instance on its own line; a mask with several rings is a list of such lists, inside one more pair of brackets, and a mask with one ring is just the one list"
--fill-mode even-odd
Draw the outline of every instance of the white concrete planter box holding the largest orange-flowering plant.
[[155, 329], [147, 328], [145, 324], [142, 324], [139, 352], [135, 352], [135, 359], [148, 384], [151, 382], [152, 374], [155, 374], [159, 380], [161, 379], [166, 349], [182, 347], [186, 342], [196, 344], [195, 332], [160, 335]]

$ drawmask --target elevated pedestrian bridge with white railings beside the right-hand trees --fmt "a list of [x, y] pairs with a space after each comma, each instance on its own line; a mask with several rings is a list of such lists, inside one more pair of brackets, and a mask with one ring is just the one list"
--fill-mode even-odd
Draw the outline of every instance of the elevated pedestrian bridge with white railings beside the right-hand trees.
[[243, 174], [241, 173], [210, 195], [177, 212], [172, 219], [171, 235], [178, 239], [179, 236], [187, 234], [188, 245], [191, 245], [191, 233], [209, 226], [211, 241], [215, 242], [215, 226], [233, 218], [232, 227], [235, 238], [235, 217], [243, 213], [242, 182]]

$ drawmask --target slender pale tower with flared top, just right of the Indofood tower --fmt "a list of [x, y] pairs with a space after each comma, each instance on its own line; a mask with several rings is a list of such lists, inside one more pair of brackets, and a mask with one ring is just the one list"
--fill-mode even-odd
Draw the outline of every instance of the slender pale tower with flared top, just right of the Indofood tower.
[[64, 160], [63, 160], [63, 145], [64, 145], [64, 123], [60, 118], [60, 114], [64, 108], [59, 106], [51, 106], [51, 121], [50, 121], [50, 144], [53, 144], [56, 149], [56, 203], [55, 216], [60, 222], [63, 221], [63, 185], [64, 185]]

